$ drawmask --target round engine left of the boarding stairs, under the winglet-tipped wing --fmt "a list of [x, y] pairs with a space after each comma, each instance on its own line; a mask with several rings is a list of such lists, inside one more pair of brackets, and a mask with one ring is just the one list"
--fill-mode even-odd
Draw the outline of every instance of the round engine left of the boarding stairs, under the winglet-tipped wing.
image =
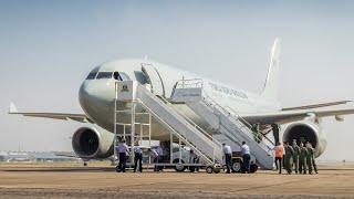
[[81, 127], [72, 138], [74, 153], [82, 158], [107, 158], [113, 155], [114, 135], [98, 126]]

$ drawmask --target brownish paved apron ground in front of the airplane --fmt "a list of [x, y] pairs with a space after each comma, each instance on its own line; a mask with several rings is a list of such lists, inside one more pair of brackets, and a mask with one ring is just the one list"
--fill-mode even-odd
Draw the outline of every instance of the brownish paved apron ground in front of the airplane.
[[354, 166], [319, 175], [116, 172], [107, 163], [0, 164], [0, 198], [354, 198]]

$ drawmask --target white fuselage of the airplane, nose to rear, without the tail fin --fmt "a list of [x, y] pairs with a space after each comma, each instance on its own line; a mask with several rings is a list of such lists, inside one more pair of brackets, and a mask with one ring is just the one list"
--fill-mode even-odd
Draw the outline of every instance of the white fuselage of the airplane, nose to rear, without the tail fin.
[[[183, 78], [201, 78], [205, 93], [219, 105], [232, 108], [238, 114], [251, 114], [259, 112], [274, 112], [280, 109], [278, 102], [266, 101], [260, 98], [259, 95], [251, 94], [249, 92], [237, 90], [231, 86], [204, 78], [199, 75], [188, 73], [176, 67], [167, 66], [153, 61], [144, 60], [122, 60], [115, 62], [104, 63], [94, 70], [98, 72], [123, 72], [129, 76], [132, 81], [137, 81], [142, 84], [142, 64], [150, 64], [157, 71], [163, 86], [166, 98], [170, 98], [173, 88], [177, 81]], [[154, 91], [154, 87], [153, 87]], [[115, 80], [114, 78], [95, 78], [85, 80], [79, 91], [79, 101], [85, 112], [98, 126], [113, 132], [114, 127], [114, 96], [115, 95]], [[127, 108], [128, 103], [119, 103], [118, 108]], [[183, 104], [178, 106], [185, 115], [190, 119], [208, 129], [206, 124], [198, 115], [196, 115], [189, 107]], [[127, 122], [131, 119], [131, 115], [119, 115], [118, 121]], [[169, 135], [165, 127], [156, 119], [152, 122], [153, 137], [158, 138], [165, 135]]]

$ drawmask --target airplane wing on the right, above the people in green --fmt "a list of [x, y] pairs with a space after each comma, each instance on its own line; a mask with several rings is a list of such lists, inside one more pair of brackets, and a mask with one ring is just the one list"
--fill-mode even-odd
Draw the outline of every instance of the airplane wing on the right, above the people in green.
[[343, 121], [343, 115], [354, 114], [354, 106], [351, 107], [326, 107], [310, 109], [281, 111], [274, 113], [244, 114], [240, 115], [250, 123], [260, 122], [261, 124], [285, 124], [302, 121], [305, 117], [315, 116], [316, 118], [335, 116], [335, 119]]

